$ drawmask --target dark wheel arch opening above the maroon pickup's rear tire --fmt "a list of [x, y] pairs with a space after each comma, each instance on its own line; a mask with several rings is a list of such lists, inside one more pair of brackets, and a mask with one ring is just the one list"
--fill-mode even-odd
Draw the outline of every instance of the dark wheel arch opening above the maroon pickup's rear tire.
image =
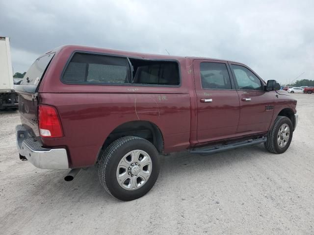
[[[160, 128], [151, 121], [129, 121], [116, 128], [107, 136], [102, 146], [103, 152], [113, 141], [124, 136], [137, 136], [150, 141], [159, 153], [163, 153], [164, 140]], [[99, 154], [101, 156], [102, 153]], [[98, 158], [99, 158], [98, 156]]]

